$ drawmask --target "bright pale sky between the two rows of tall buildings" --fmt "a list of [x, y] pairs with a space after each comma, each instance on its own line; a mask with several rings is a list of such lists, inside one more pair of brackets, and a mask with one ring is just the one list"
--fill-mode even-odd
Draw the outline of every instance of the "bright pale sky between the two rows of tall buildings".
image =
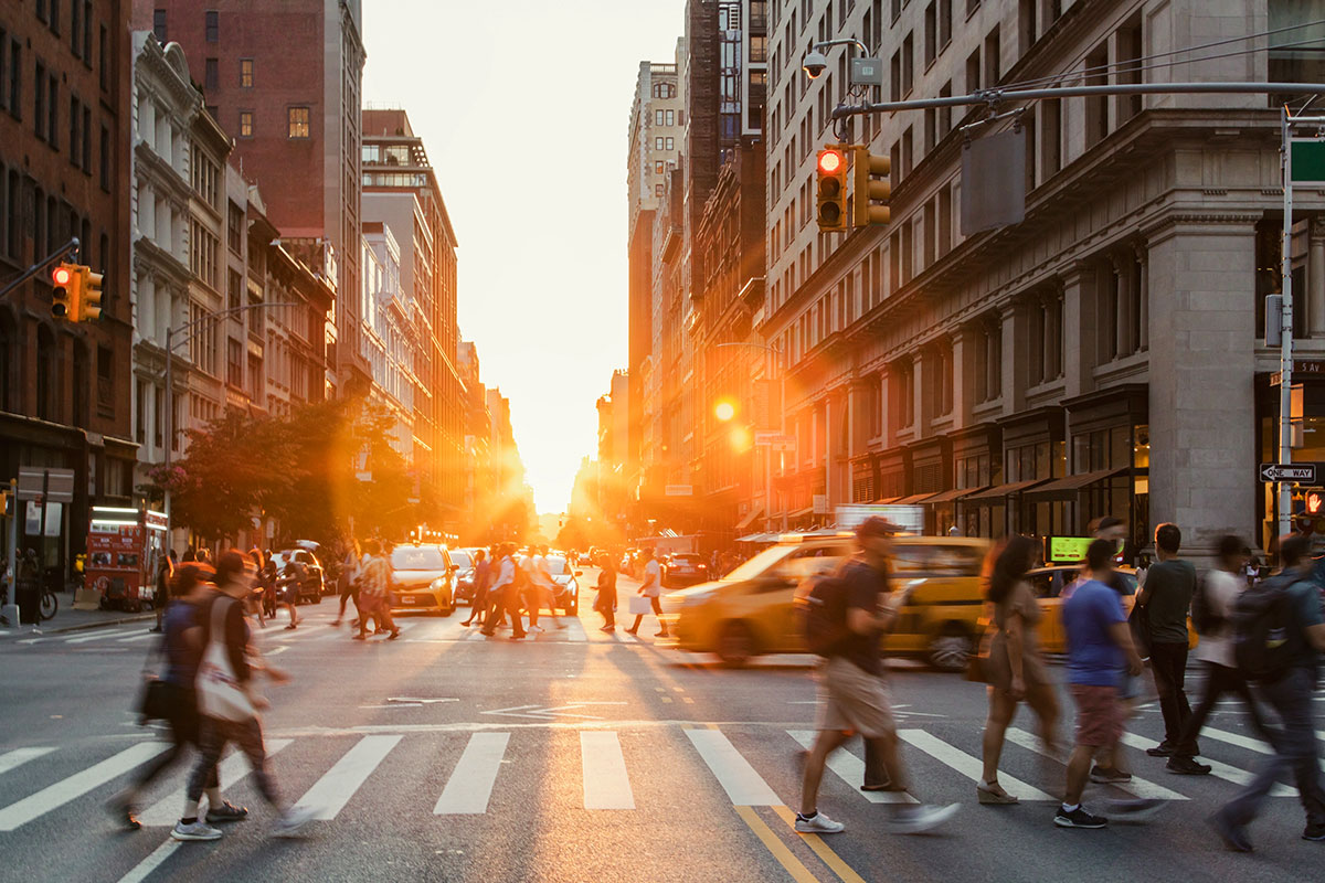
[[404, 107], [458, 248], [460, 335], [510, 398], [541, 512], [598, 449], [627, 361], [625, 152], [640, 61], [685, 0], [368, 0], [364, 106]]

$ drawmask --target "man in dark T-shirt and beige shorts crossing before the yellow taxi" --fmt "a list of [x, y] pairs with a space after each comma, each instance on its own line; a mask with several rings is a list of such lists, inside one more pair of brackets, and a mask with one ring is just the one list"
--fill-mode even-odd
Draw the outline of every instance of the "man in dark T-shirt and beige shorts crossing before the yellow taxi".
[[[906, 790], [880, 649], [882, 635], [909, 600], [909, 590], [893, 592], [888, 579], [892, 535], [897, 530], [881, 518], [867, 519], [856, 528], [857, 553], [832, 577], [841, 586], [841, 637], [825, 651], [818, 671], [819, 735], [804, 759], [800, 812], [795, 822], [795, 829], [803, 834], [836, 834], [845, 827], [820, 813], [818, 800], [828, 755], [853, 732], [876, 740], [893, 790]], [[900, 831], [920, 833], [950, 818], [957, 809], [955, 804], [900, 806], [893, 823]]]

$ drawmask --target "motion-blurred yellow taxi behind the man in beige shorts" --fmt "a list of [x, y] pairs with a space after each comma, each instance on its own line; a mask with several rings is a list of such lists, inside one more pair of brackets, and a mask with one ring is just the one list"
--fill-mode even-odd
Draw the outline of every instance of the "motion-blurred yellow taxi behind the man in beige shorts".
[[[988, 540], [961, 536], [898, 536], [892, 582], [912, 589], [884, 650], [928, 661], [941, 671], [965, 671], [982, 634], [980, 567]], [[767, 653], [806, 653], [796, 592], [808, 577], [828, 573], [853, 551], [847, 532], [786, 535], [722, 579], [664, 593], [662, 620], [672, 646], [716, 653], [743, 665]]]

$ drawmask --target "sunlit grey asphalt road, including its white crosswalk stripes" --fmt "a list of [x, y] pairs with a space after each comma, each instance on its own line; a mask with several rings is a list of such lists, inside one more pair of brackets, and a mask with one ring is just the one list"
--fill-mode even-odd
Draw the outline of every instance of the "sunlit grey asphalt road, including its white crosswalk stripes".
[[[105, 804], [152, 751], [154, 731], [130, 711], [151, 643], [144, 626], [5, 637], [0, 880], [1321, 879], [1325, 845], [1298, 838], [1291, 794], [1253, 826], [1253, 855], [1226, 853], [1203, 823], [1265, 751], [1235, 707], [1216, 711], [1202, 739], [1227, 778], [1166, 774], [1133, 751], [1138, 776], [1174, 793], [1165, 813], [1060, 830], [1049, 797], [1063, 767], [1008, 744], [1002, 781], [1040, 800], [977, 805], [965, 764], [980, 753], [982, 687], [902, 663], [890, 679], [914, 790], [961, 812], [926, 835], [890, 833], [892, 808], [856, 788], [855, 744], [820, 798], [847, 831], [798, 835], [791, 733], [814, 725], [812, 659], [726, 670], [651, 638], [603, 634], [588, 608], [586, 598], [567, 629], [526, 642], [484, 639], [460, 625], [462, 610], [401, 617], [401, 639], [360, 645], [327, 625], [330, 598], [301, 608], [295, 631], [262, 631], [272, 662], [294, 676], [266, 690], [272, 768], [286, 800], [325, 815], [297, 841], [270, 837], [274, 815], [238, 759], [223, 768], [235, 770], [225, 790], [252, 814], [223, 841], [170, 839], [183, 767], [143, 801], [147, 827], [119, 830]], [[649, 617], [640, 631], [653, 630]], [[1316, 706], [1325, 716], [1325, 702]], [[1015, 725], [1031, 731], [1034, 720], [1023, 711]], [[1157, 741], [1157, 706], [1130, 731], [1141, 747]], [[1105, 797], [1126, 794], [1092, 786], [1086, 802]]]

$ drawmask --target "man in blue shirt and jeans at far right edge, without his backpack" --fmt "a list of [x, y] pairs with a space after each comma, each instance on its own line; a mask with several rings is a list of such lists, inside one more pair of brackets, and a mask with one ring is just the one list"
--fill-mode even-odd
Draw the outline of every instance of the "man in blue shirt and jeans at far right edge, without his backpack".
[[1316, 691], [1320, 654], [1325, 651], [1325, 616], [1321, 613], [1320, 586], [1312, 577], [1310, 540], [1296, 534], [1281, 539], [1279, 561], [1283, 569], [1271, 579], [1284, 584], [1293, 610], [1287, 635], [1293, 647], [1293, 662], [1277, 679], [1257, 684], [1257, 695], [1280, 719], [1272, 740], [1275, 755], [1238, 797], [1210, 817], [1210, 825], [1224, 845], [1239, 853], [1252, 850], [1247, 825], [1265, 802], [1269, 789], [1288, 770], [1293, 772], [1302, 809], [1306, 810], [1302, 839], [1325, 842], [1325, 788], [1321, 786], [1312, 723], [1312, 694]]

